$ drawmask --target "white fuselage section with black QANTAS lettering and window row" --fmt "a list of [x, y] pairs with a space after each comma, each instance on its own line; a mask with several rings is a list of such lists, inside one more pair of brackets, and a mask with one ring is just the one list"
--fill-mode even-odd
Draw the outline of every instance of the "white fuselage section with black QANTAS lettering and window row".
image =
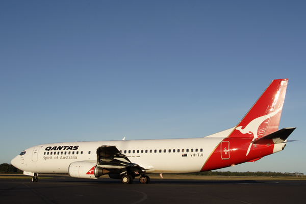
[[25, 149], [25, 154], [15, 157], [12, 164], [26, 172], [68, 173], [72, 162], [94, 163], [97, 160], [96, 149], [102, 145], [112, 145], [132, 163], [151, 173], [199, 172], [213, 150], [231, 130], [204, 138], [42, 144]]

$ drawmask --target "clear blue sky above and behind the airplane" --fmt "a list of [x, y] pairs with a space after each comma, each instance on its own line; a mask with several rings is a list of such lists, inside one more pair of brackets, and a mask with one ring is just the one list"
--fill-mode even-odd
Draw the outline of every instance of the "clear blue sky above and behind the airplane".
[[0, 163], [43, 143], [203, 137], [288, 78], [285, 150], [223, 170], [306, 174], [304, 1], [1, 1]]

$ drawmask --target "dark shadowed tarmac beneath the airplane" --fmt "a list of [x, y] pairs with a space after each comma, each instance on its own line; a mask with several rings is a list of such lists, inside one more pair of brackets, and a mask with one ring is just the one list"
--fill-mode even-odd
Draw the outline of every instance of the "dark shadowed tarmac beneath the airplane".
[[[24, 178], [24, 176], [22, 176]], [[305, 180], [156, 179], [124, 185], [107, 177], [74, 179], [66, 175], [0, 179], [1, 203], [305, 203]], [[49, 179], [44, 179], [47, 177]], [[52, 177], [50, 179], [50, 177]]]

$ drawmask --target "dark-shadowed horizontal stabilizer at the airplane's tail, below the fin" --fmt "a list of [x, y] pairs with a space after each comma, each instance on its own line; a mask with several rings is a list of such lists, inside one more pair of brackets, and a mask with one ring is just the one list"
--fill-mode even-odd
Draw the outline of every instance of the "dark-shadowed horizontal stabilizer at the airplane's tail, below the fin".
[[262, 138], [252, 141], [253, 144], [267, 144], [267, 140], [273, 140], [274, 144], [283, 143], [289, 135], [296, 129], [296, 127], [287, 127]]

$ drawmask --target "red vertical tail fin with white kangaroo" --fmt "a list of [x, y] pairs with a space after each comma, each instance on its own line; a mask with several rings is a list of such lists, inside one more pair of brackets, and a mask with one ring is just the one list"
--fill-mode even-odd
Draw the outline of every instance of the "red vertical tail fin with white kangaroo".
[[278, 130], [288, 79], [273, 80], [228, 137], [260, 138]]

